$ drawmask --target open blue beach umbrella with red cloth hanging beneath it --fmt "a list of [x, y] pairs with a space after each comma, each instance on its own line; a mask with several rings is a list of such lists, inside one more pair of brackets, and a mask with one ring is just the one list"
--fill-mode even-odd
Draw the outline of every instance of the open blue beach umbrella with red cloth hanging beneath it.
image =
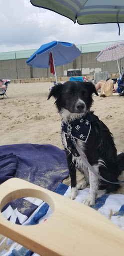
[[80, 56], [81, 51], [75, 46], [74, 43], [52, 41], [42, 44], [26, 61], [31, 67], [48, 68], [55, 73], [56, 83], [56, 70], [55, 66], [65, 65], [72, 62], [75, 58]]

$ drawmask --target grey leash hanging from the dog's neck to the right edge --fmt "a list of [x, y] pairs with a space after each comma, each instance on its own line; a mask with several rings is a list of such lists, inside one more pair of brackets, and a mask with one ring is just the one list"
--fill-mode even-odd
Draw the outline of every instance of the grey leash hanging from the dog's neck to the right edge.
[[99, 179], [102, 179], [104, 181], [107, 181], [109, 183], [113, 183], [113, 184], [121, 184], [121, 183], [124, 183], [124, 180], [123, 181], [118, 181], [118, 182], [111, 182], [105, 178], [103, 178], [101, 175], [99, 175], [96, 170], [91, 166], [91, 164], [89, 163], [89, 161], [87, 160], [86, 156], [82, 153], [81, 149], [78, 147], [76, 141], [75, 141], [75, 138], [72, 136], [72, 133], [71, 133], [71, 130], [72, 130], [72, 126], [70, 123], [68, 123], [68, 126], [67, 126], [67, 138], [71, 138], [71, 141], [73, 143], [73, 145], [76, 147], [79, 155], [82, 157], [83, 161], [86, 163], [87, 167], [89, 167], [89, 169], [99, 178]]

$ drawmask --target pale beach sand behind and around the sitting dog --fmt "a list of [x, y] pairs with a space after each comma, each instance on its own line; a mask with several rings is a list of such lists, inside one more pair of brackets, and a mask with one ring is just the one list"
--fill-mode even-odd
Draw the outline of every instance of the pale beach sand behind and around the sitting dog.
[[[54, 98], [47, 100], [50, 82], [10, 83], [0, 100], [0, 145], [52, 144], [63, 149], [61, 118]], [[94, 96], [92, 110], [110, 128], [117, 150], [124, 151], [124, 97]], [[78, 173], [78, 179], [81, 175]], [[66, 180], [70, 184], [70, 178]]]

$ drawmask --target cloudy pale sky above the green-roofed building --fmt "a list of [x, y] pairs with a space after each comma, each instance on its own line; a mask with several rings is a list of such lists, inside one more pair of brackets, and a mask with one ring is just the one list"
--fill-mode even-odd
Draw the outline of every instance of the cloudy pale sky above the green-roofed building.
[[0, 0], [0, 52], [37, 49], [53, 40], [77, 44], [124, 40], [124, 24], [79, 25], [30, 0]]

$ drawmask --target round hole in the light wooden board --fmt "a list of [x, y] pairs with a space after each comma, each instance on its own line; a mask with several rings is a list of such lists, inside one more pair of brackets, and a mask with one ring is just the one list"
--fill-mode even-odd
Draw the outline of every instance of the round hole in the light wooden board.
[[[23, 197], [20, 197], [20, 194]], [[30, 225], [46, 221], [52, 215], [53, 210], [49, 205], [53, 205], [52, 198], [44, 192], [19, 189], [2, 199], [0, 209], [1, 214], [10, 222]]]

